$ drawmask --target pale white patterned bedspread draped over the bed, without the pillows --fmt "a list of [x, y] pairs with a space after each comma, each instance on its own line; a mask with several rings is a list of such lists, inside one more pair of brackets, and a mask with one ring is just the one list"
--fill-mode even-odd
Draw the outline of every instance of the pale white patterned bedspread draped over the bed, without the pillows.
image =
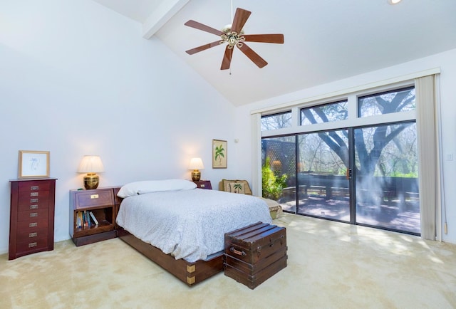
[[224, 234], [258, 221], [271, 223], [263, 200], [207, 189], [127, 197], [116, 219], [138, 239], [194, 262], [224, 250]]

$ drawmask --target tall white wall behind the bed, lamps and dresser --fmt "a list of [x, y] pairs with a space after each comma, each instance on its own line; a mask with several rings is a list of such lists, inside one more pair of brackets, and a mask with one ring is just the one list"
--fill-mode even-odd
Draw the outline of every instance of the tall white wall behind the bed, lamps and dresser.
[[202, 157], [212, 185], [212, 139], [234, 140], [234, 107], [141, 25], [89, 0], [1, 1], [0, 253], [9, 243], [9, 179], [19, 150], [51, 152], [55, 240], [69, 239], [69, 190], [83, 155], [100, 155], [100, 187], [190, 179]]

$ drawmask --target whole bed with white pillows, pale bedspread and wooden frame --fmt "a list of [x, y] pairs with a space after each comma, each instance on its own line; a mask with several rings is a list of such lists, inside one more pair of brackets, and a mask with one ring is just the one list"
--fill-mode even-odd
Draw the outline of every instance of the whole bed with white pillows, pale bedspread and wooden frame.
[[120, 188], [120, 239], [188, 286], [223, 270], [224, 234], [271, 223], [267, 204], [244, 194], [197, 189], [183, 179]]

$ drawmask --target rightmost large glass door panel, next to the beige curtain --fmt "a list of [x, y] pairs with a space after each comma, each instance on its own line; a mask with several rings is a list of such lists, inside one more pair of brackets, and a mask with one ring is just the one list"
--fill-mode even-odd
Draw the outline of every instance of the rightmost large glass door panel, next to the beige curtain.
[[356, 129], [356, 222], [420, 233], [416, 123]]

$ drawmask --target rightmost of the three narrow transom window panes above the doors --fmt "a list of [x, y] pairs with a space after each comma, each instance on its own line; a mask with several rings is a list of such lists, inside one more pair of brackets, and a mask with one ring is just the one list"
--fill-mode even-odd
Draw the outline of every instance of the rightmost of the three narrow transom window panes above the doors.
[[359, 117], [415, 110], [415, 88], [406, 88], [358, 98]]

